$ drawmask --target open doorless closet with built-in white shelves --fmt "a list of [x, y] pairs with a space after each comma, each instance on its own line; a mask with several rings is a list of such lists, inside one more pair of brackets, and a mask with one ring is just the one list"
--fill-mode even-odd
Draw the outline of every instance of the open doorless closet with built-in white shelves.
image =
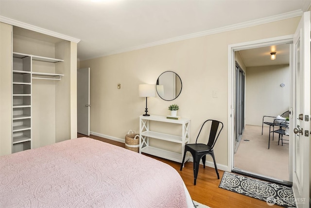
[[12, 128], [11, 138], [0, 138], [0, 155], [76, 138], [77, 44], [17, 26], [11, 32], [12, 99], [4, 105], [12, 113], [1, 123]]

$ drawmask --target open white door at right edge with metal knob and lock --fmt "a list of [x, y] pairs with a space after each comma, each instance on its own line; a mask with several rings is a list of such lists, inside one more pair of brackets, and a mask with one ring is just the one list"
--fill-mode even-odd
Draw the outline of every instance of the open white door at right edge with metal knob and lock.
[[294, 35], [291, 132], [293, 190], [298, 208], [309, 208], [310, 188], [310, 12]]

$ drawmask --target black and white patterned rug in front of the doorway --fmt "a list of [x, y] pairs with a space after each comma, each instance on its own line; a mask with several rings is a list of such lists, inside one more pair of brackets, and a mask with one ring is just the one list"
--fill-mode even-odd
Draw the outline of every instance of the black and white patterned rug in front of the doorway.
[[224, 172], [219, 188], [266, 201], [271, 206], [296, 207], [292, 188], [232, 172]]

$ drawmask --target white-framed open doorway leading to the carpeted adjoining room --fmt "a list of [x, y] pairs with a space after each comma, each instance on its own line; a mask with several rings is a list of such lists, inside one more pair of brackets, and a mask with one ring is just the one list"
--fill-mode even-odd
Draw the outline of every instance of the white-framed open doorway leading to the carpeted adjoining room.
[[[264, 128], [263, 131], [265, 133], [261, 135], [261, 124], [263, 115], [277, 116], [283, 110], [284, 112], [289, 110], [291, 61], [289, 52], [292, 41], [292, 37], [286, 36], [254, 41], [251, 44], [241, 43], [235, 46], [229, 46], [229, 50], [232, 52], [232, 57], [230, 58], [231, 71], [229, 72], [231, 75], [229, 77], [229, 85], [231, 86], [229, 94], [232, 107], [230, 107], [231, 116], [228, 121], [230, 124], [228, 131], [228, 137], [230, 139], [228, 142], [230, 143], [231, 170], [283, 184], [290, 184], [289, 182], [292, 180], [289, 144], [287, 146], [277, 145], [278, 135], [275, 135], [274, 143], [287, 156], [280, 156], [281, 154], [279, 152], [268, 149], [269, 128]], [[251, 60], [251, 57], [248, 56], [251, 56], [253, 52], [262, 53], [262, 55], [265, 55], [265, 58], [270, 59], [269, 55], [270, 52], [273, 52], [273, 48], [275, 48], [276, 52], [279, 52], [276, 53], [276, 56], [278, 55], [279, 58], [278, 61], [285, 58], [282, 57], [282, 54], [285, 54], [283, 50], [288, 52], [286, 62], [273, 62], [273, 64], [271, 62], [269, 64], [268, 62], [267, 64], [263, 64], [269, 60], [260, 60], [261, 54], [257, 54], [253, 56], [253, 58], [256, 57], [257, 59], [252, 60], [255, 65], [250, 65], [249, 60]], [[266, 52], [263, 52], [263, 50], [266, 50]], [[287, 76], [287, 78], [283, 79], [284, 76]], [[278, 79], [278, 77], [283, 78]], [[284, 85], [283, 82], [285, 82], [287, 90], [284, 90], [285, 88], [282, 87]], [[269, 102], [271, 99], [273, 100]], [[276, 102], [275, 100], [278, 101]], [[254, 131], [256, 128], [258, 129], [256, 130], [257, 132]], [[262, 140], [261, 144], [256, 143], [259, 141], [257, 138]], [[259, 148], [263, 149], [259, 150]], [[236, 157], [239, 151], [243, 151], [242, 149], [246, 150], [246, 152], [242, 156]], [[259, 153], [256, 154], [255, 150], [258, 150]], [[271, 156], [269, 156], [270, 153], [272, 154]], [[254, 157], [252, 158], [252, 156]], [[277, 168], [279, 162], [276, 161], [275, 164], [272, 163], [270, 165], [269, 163], [274, 162], [276, 156], [280, 156], [282, 166], [286, 166], [285, 170], [284, 167], [279, 169], [286, 172], [285, 177], [272, 174], [277, 172], [272, 170], [272, 168]], [[241, 158], [242, 161], [238, 161]], [[262, 160], [261, 164], [259, 163], [260, 160]], [[250, 164], [249, 167], [241, 165], [245, 165], [247, 162]], [[269, 170], [270, 168], [271, 170]]]

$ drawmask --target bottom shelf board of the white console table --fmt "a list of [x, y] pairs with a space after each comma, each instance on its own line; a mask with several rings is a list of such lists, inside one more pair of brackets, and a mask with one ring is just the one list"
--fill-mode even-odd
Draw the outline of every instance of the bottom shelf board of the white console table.
[[[162, 150], [162, 149], [158, 149], [158, 148], [154, 148], [154, 147], [143, 147], [141, 148], [141, 152], [147, 153], [147, 154], [151, 154], [151, 155], [155, 155], [157, 157], [161, 157], [161, 158], [166, 158], [168, 160], [172, 160], [178, 163], [182, 162], [182, 157], [181, 154], [173, 152], [173, 151], [166, 151], [166, 150]], [[186, 155], [185, 161], [187, 161], [189, 159], [189, 156]]]

